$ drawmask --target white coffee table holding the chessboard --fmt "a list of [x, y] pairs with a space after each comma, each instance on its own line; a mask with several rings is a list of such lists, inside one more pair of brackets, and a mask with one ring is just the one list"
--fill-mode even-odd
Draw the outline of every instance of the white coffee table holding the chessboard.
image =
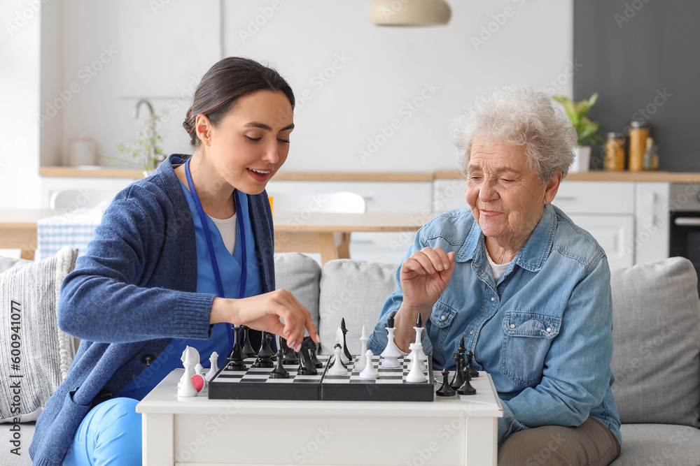
[[137, 405], [144, 466], [496, 465], [503, 407], [486, 372], [476, 395], [433, 402], [178, 399], [182, 374]]

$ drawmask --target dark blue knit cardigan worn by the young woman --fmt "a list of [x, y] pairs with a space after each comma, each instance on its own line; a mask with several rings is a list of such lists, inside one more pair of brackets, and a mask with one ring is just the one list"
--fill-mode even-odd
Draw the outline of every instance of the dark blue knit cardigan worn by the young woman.
[[[59, 327], [82, 342], [68, 377], [36, 421], [29, 446], [35, 466], [60, 465], [87, 412], [143, 372], [173, 338], [209, 338], [215, 296], [195, 293], [195, 227], [171, 164], [181, 163], [178, 157], [169, 156], [114, 198], [87, 254], [62, 284]], [[267, 293], [274, 290], [267, 193], [249, 195], [248, 205], [251, 263], [260, 267]]]

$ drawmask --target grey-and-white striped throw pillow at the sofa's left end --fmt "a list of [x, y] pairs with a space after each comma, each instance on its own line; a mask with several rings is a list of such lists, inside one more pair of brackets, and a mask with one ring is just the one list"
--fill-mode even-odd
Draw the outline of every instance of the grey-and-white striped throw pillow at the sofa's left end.
[[75, 349], [58, 328], [56, 305], [77, 258], [77, 249], [65, 247], [0, 274], [0, 421], [35, 420], [68, 374]]

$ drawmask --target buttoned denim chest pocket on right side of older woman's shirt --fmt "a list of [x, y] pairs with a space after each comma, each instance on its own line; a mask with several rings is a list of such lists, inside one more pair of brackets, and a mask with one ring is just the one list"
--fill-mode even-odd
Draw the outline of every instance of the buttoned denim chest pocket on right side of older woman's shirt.
[[559, 334], [561, 318], [534, 312], [506, 312], [500, 372], [514, 384], [533, 386], [542, 379], [545, 357]]

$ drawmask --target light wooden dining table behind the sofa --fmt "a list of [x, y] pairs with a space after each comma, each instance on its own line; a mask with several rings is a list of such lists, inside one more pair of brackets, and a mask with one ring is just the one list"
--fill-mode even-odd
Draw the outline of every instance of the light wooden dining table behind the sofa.
[[[21, 249], [22, 259], [34, 259], [36, 222], [64, 213], [51, 209], [0, 209], [0, 249]], [[328, 214], [279, 212], [274, 215], [276, 252], [321, 253], [321, 261], [349, 259], [353, 231], [417, 231], [432, 215], [420, 214]], [[335, 244], [334, 233], [341, 235]]]

